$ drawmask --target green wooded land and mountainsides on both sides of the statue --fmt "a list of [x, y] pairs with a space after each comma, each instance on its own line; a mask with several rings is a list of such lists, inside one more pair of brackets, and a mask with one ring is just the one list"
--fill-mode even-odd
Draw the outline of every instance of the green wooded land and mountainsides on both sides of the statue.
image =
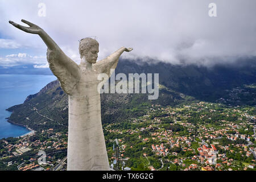
[[[123, 67], [138, 69], [129, 61], [123, 61]], [[193, 65], [159, 65], [155, 69], [160, 73], [158, 100], [148, 100], [147, 94], [101, 95], [109, 162], [113, 163], [113, 143], [118, 139], [124, 167], [133, 170], [251, 170], [248, 166], [255, 164], [251, 150], [256, 146], [256, 92], [255, 84], [249, 83], [255, 81], [255, 76], [249, 75], [244, 83], [244, 68], [208, 70]], [[152, 68], [143, 65], [142, 70], [151, 72]], [[49, 157], [44, 169], [65, 158], [68, 96], [57, 81], [8, 110], [13, 111], [10, 122], [30, 127], [36, 134], [0, 140], [0, 170], [38, 164], [31, 158], [38, 159], [39, 150], [46, 151]], [[246, 141], [249, 137], [250, 142]], [[202, 153], [198, 148], [204, 145], [208, 147]], [[14, 156], [20, 146], [31, 150]], [[9, 162], [13, 164], [7, 166]]]

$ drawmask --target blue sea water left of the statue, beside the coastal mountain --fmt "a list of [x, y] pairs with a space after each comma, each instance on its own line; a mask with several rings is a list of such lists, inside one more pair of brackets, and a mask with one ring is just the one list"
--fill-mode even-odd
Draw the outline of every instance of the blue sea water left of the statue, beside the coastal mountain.
[[26, 97], [40, 91], [49, 82], [56, 80], [51, 75], [0, 75], [0, 139], [19, 137], [30, 130], [7, 122], [11, 113], [5, 109], [22, 104]]

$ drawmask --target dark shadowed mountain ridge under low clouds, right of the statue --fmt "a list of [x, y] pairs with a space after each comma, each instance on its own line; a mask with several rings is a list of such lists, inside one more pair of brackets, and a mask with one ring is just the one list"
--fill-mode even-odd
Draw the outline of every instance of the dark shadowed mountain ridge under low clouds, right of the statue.
[[129, 61], [118, 63], [115, 73], [159, 73], [159, 83], [199, 100], [214, 101], [232, 89], [256, 81], [256, 57], [239, 59], [234, 63], [173, 65], [160, 61]]

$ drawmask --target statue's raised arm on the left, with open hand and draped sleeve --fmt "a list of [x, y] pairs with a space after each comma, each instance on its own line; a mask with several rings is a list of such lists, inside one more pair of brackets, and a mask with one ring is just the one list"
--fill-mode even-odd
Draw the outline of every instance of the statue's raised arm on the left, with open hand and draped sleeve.
[[44, 43], [48, 47], [47, 60], [49, 63], [49, 68], [60, 81], [61, 88], [63, 88], [66, 93], [72, 94], [74, 86], [80, 79], [79, 65], [65, 55], [60, 47], [42, 28], [36, 24], [28, 22], [27, 20], [22, 19], [22, 22], [28, 24], [30, 27], [24, 27], [20, 24], [9, 21], [9, 23], [14, 27], [30, 34], [38, 34], [40, 38], [43, 39]]

